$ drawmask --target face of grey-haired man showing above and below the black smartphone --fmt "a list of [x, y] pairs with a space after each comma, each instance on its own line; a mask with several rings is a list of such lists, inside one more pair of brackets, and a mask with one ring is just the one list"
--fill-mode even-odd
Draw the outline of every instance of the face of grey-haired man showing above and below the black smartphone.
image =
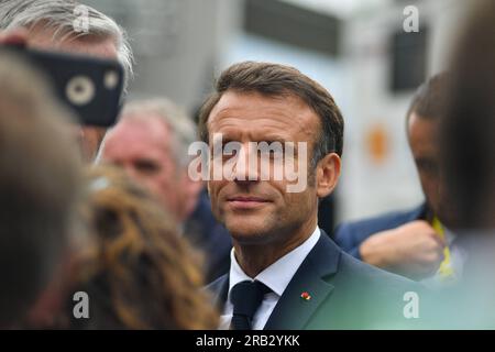
[[[117, 45], [112, 38], [88, 36], [59, 42], [53, 40], [53, 31], [38, 28], [30, 32], [26, 44], [38, 50], [74, 53], [108, 59], [118, 58]], [[90, 163], [95, 160], [106, 131], [106, 129], [97, 127], [80, 128], [77, 139], [85, 162]]]

